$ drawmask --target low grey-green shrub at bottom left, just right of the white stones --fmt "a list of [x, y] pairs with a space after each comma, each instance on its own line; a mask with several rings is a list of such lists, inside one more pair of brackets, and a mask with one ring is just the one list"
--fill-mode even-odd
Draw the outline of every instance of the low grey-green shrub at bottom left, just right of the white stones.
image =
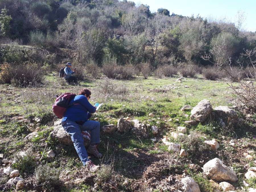
[[35, 169], [36, 181], [43, 185], [56, 185], [59, 181], [60, 170], [48, 165], [39, 165]]

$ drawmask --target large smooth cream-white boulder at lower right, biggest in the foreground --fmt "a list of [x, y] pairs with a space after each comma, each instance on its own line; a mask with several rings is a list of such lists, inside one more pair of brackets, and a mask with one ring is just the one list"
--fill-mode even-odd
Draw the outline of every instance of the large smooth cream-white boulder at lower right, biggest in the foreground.
[[236, 183], [238, 181], [236, 173], [218, 158], [208, 161], [203, 166], [203, 171], [208, 177], [219, 182]]

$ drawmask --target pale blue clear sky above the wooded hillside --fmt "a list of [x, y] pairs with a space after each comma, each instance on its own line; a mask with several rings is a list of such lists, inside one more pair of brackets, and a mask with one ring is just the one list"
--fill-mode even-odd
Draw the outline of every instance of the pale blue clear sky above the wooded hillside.
[[[129, 1], [129, 0], [128, 0]], [[170, 14], [175, 13], [183, 16], [197, 16], [198, 14], [208, 20], [223, 20], [235, 22], [237, 12], [244, 12], [246, 20], [243, 29], [256, 31], [256, 1], [255, 0], [130, 0], [136, 5], [149, 5], [151, 12], [158, 8], [168, 9]]]

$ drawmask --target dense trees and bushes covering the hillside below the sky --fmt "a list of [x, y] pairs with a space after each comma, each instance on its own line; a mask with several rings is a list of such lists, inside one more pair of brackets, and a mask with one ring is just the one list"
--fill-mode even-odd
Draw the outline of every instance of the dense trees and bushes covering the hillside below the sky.
[[241, 30], [241, 23], [170, 15], [164, 8], [151, 13], [148, 5], [126, 0], [1, 0], [0, 9], [1, 44], [69, 48], [78, 63], [114, 58], [121, 65], [208, 65], [200, 57], [210, 53], [217, 64], [236, 65], [243, 49], [256, 46], [255, 32]]

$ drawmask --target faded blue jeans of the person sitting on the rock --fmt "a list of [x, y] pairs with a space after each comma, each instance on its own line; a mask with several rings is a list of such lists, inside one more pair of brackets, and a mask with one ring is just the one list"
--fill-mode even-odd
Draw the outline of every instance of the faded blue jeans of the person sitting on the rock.
[[100, 122], [87, 120], [84, 124], [79, 125], [75, 121], [66, 120], [61, 125], [70, 135], [75, 149], [85, 166], [86, 161], [89, 159], [81, 131], [91, 131], [91, 143], [100, 143]]

